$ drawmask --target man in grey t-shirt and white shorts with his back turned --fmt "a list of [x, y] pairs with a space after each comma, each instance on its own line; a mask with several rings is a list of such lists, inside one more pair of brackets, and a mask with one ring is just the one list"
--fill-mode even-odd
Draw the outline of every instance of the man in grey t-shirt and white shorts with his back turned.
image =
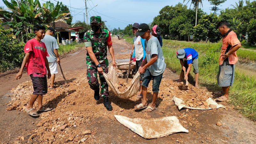
[[49, 27], [45, 33], [44, 38], [41, 40], [44, 42], [47, 52], [49, 54], [49, 57], [47, 57], [47, 60], [49, 62], [49, 68], [51, 71], [51, 86], [49, 89], [54, 88], [54, 80], [55, 80], [55, 74], [58, 73], [57, 63], [60, 63], [60, 57], [58, 53], [59, 45], [56, 41], [56, 39], [53, 37], [55, 33], [55, 30], [52, 27]]

